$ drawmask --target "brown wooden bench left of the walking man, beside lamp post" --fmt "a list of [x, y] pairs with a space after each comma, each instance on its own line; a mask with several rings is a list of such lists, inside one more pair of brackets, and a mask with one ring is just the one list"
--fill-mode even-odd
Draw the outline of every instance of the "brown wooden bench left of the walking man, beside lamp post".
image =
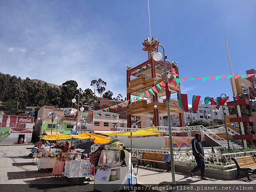
[[163, 161], [163, 157], [166, 154], [163, 153], [152, 153], [152, 152], [143, 152], [142, 158], [137, 158], [138, 164], [140, 166], [140, 163], [142, 161], [143, 166], [145, 166], [144, 161], [150, 161], [151, 162], [151, 167], [153, 166], [153, 163], [155, 163], [155, 166], [158, 168], [157, 163], [165, 163], [167, 164], [167, 172], [169, 172], [169, 161]]

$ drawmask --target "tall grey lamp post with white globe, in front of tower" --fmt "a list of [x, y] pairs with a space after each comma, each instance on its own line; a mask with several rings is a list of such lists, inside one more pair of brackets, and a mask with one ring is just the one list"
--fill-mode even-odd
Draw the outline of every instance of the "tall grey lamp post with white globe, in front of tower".
[[[163, 64], [164, 64], [164, 75], [165, 75], [165, 83], [168, 85], [167, 79], [167, 69], [166, 69], [166, 54], [165, 49], [162, 44], [157, 45], [157, 52], [154, 53], [153, 59], [154, 61], [160, 61], [162, 58], [162, 54], [158, 52], [159, 46], [163, 49]], [[169, 62], [170, 68], [172, 69], [172, 64]], [[166, 87], [168, 89], [168, 86]], [[170, 96], [171, 98], [171, 96]], [[167, 119], [168, 119], [168, 129], [169, 129], [169, 145], [170, 145], [170, 157], [171, 157], [171, 169], [172, 169], [172, 184], [175, 185], [175, 169], [174, 169], [174, 160], [173, 160], [173, 149], [172, 149], [172, 122], [171, 122], [171, 114], [170, 114], [170, 105], [169, 99], [166, 99], [167, 105]]]

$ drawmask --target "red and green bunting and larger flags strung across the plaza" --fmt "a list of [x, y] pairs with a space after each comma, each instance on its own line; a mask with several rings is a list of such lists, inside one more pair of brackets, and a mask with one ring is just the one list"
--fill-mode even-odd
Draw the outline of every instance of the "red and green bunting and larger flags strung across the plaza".
[[[256, 78], [256, 74], [246, 74], [246, 75], [224, 75], [224, 76], [209, 76], [209, 77], [190, 77], [190, 78], [177, 78], [178, 77], [178, 74], [175, 72], [175, 69], [172, 69], [170, 73], [168, 73], [168, 82], [165, 82], [165, 81], [161, 81], [160, 83], [154, 85], [153, 87], [151, 87], [150, 89], [146, 90], [145, 92], [141, 93], [140, 95], [138, 96], [135, 96], [129, 100], [125, 100], [124, 102], [121, 102], [119, 104], [116, 104], [116, 105], [112, 105], [108, 108], [103, 108], [103, 109], [100, 109], [100, 110], [97, 110], [97, 111], [91, 111], [91, 112], [86, 112], [86, 115], [91, 115], [93, 113], [96, 113], [98, 114], [99, 112], [109, 112], [110, 109], [115, 109], [117, 110], [117, 108], [119, 107], [127, 107], [129, 105], [129, 102], [130, 104], [132, 104], [132, 102], [135, 102], [136, 104], [136, 101], [141, 101], [144, 99], [144, 96], [147, 96], [148, 98], [150, 98], [150, 95], [153, 95], [155, 96], [155, 93], [158, 93], [159, 90], [162, 90], [161, 87], [165, 87], [165, 91], [166, 91], [166, 99], [168, 99], [170, 101], [170, 95], [171, 95], [171, 91], [169, 89], [169, 86], [171, 84], [174, 85], [174, 87], [177, 88], [177, 85], [180, 84], [180, 81], [186, 81], [186, 80], [200, 80], [202, 79], [203, 81], [206, 81], [206, 80], [209, 80], [211, 81], [212, 79], [215, 79], [215, 81], [217, 81], [218, 79], [230, 79], [230, 78], [233, 78], [234, 79], [237, 79], [239, 77], [241, 77], [241, 79], [244, 79], [244, 78], [249, 78], [249, 77], [252, 77], [254, 76]], [[169, 85], [168, 85], [169, 83]], [[253, 92], [252, 94], [250, 92]], [[248, 93], [243, 93], [243, 94], [239, 94], [237, 96], [233, 96], [233, 99], [234, 100], [237, 100], [237, 99], [242, 99], [242, 98], [247, 98], [249, 96], [250, 99], [256, 97], [256, 87], [254, 87], [253, 89], [251, 89]], [[198, 105], [199, 105], [199, 101], [200, 101], [200, 98], [201, 96], [195, 96], [193, 95], [192, 97], [192, 110], [194, 112], [198, 111]], [[216, 109], [218, 109], [221, 105], [224, 105], [225, 102], [227, 102], [227, 100], [229, 99], [229, 97], [217, 97], [217, 99], [213, 99], [212, 97], [205, 97], [204, 99], [204, 102], [205, 104], [208, 104], [209, 102], [211, 102], [211, 105], [216, 105]], [[187, 94], [181, 94], [181, 93], [178, 93], [178, 100], [179, 100], [179, 106], [180, 108], [185, 111], [185, 112], [188, 112], [188, 100], [187, 100]], [[77, 115], [79, 115], [79, 112], [76, 113], [76, 116], [75, 116], [75, 119], [77, 117]], [[84, 112], [80, 112], [80, 115], [85, 115]]]

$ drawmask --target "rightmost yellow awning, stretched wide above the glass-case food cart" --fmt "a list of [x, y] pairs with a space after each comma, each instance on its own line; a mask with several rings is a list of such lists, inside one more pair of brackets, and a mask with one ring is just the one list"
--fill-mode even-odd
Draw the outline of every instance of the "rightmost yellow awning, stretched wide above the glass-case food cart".
[[116, 131], [115, 133], [102, 133], [108, 136], [150, 136], [150, 135], [158, 135], [162, 132], [157, 128], [152, 126], [151, 128], [138, 129], [135, 131]]

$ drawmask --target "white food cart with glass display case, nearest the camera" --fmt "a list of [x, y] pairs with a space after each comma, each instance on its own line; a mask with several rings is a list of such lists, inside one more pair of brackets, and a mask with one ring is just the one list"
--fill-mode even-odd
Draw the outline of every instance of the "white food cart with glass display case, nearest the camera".
[[[94, 189], [101, 192], [114, 192], [128, 186], [128, 166], [121, 166], [120, 150], [102, 150], [94, 179]], [[101, 184], [109, 185], [107, 188]]]

